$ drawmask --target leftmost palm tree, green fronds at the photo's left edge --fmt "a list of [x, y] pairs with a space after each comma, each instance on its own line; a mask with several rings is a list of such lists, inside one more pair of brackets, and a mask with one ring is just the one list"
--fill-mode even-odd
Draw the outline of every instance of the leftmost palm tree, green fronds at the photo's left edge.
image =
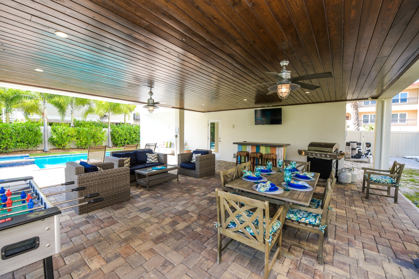
[[10, 113], [18, 110], [28, 119], [37, 113], [36, 94], [27, 90], [0, 87], [0, 108], [5, 108], [6, 123], [10, 123]]

